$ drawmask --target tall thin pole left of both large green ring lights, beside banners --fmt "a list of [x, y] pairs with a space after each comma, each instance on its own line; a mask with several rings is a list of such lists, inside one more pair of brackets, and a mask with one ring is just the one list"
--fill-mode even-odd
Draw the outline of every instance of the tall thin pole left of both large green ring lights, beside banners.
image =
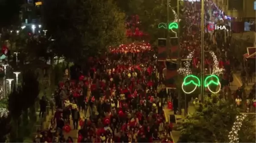
[[[177, 0], [177, 24], [178, 24], [178, 29], [177, 29], [177, 42], [178, 42], [178, 60], [177, 60], [177, 68], [180, 68], [180, 3], [179, 0]], [[178, 75], [177, 77], [178, 83], [180, 84], [180, 76]], [[180, 87], [180, 85], [177, 85], [177, 87]], [[179, 108], [179, 113], [181, 114], [181, 103], [182, 103], [182, 98], [181, 98], [181, 93], [180, 90], [178, 90], [178, 108]]]

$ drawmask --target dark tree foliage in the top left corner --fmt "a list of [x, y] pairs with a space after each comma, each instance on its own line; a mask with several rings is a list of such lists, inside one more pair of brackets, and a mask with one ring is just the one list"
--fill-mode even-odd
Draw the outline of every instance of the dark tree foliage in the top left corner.
[[20, 6], [24, 0], [0, 0], [0, 28], [8, 28], [20, 23]]

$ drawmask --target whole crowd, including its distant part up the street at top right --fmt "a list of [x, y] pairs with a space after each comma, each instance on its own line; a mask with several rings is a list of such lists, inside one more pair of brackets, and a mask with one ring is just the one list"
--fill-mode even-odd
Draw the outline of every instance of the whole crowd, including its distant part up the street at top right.
[[[208, 53], [205, 67], [198, 66], [201, 26], [207, 29], [207, 25], [200, 25], [201, 10], [196, 8], [200, 3], [184, 1], [184, 5], [182, 54], [194, 50], [193, 69], [210, 69], [213, 58]], [[205, 23], [224, 19], [223, 12], [213, 3], [206, 3], [205, 15]], [[205, 30], [204, 47], [216, 52], [219, 66], [225, 69], [223, 87], [228, 87], [232, 82], [230, 40], [224, 40], [223, 35], [222, 31]], [[163, 112], [163, 98], [168, 97], [165, 79], [157, 74], [157, 59], [149, 47], [143, 44], [134, 51], [121, 46], [122, 51], [114, 49], [108, 57], [88, 60], [86, 69], [78, 65], [70, 68], [70, 79], [61, 82], [54, 93], [57, 110], [49, 130], [38, 132], [35, 143], [74, 143], [72, 137], [64, 137], [73, 129], [79, 129], [78, 143], [172, 143], [172, 123], [166, 122]], [[177, 99], [175, 94], [172, 98]], [[177, 103], [173, 105], [177, 110]]]

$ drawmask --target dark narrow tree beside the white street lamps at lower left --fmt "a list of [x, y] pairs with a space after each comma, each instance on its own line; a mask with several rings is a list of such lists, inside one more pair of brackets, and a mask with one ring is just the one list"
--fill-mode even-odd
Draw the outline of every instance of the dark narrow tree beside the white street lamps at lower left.
[[[33, 115], [35, 116], [35, 101], [38, 99], [39, 85], [35, 74], [28, 70], [23, 73], [23, 82], [21, 87], [14, 90], [9, 95], [9, 111], [12, 118], [11, 143], [22, 142], [23, 138], [28, 135], [29, 122], [30, 127], [33, 125]], [[29, 109], [29, 113], [28, 113]], [[30, 120], [28, 119], [30, 117]], [[28, 121], [29, 120], [29, 121]]]

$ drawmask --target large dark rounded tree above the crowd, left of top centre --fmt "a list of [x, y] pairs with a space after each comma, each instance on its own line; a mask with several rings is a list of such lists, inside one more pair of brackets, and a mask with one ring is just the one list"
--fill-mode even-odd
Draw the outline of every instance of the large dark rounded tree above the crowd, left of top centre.
[[72, 62], [125, 40], [125, 15], [113, 0], [45, 0], [43, 17], [52, 51]]

